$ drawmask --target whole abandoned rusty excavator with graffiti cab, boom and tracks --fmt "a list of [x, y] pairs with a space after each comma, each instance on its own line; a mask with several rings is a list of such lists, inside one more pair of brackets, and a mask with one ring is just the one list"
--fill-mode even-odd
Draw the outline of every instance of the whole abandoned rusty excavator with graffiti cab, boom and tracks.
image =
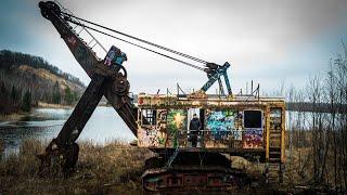
[[[283, 99], [260, 96], [259, 86], [250, 94], [233, 94], [227, 75], [229, 63], [209, 63], [77, 17], [56, 1], [41, 1], [39, 8], [91, 78], [57, 136], [38, 155], [40, 172], [52, 164], [59, 164], [64, 173], [74, 169], [79, 153], [76, 140], [104, 95], [137, 136], [134, 145], [156, 154], [145, 160], [142, 184], [146, 191], [223, 191], [243, 185], [247, 182], [245, 170], [232, 168], [230, 156], [264, 162], [266, 181], [282, 181], [285, 158]], [[190, 94], [178, 87], [178, 94], [140, 93], [132, 99], [127, 70], [121, 65], [127, 60], [126, 54], [116, 47], [105, 50], [91, 31], [202, 70], [207, 75], [207, 82]], [[89, 40], [81, 38], [82, 32]], [[97, 56], [95, 47], [106, 53], [104, 58]], [[220, 92], [207, 94], [217, 81]], [[193, 115], [201, 120], [197, 130], [189, 129]], [[193, 140], [197, 144], [193, 145]]]

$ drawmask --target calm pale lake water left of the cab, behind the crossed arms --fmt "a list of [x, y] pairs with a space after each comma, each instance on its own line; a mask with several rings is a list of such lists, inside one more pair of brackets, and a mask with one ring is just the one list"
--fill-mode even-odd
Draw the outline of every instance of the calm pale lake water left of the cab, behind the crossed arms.
[[[0, 139], [5, 143], [5, 153], [16, 152], [26, 139], [49, 142], [57, 135], [73, 109], [37, 108], [21, 121], [0, 121]], [[42, 128], [50, 126], [50, 128]], [[78, 141], [104, 144], [114, 140], [131, 142], [134, 135], [113, 107], [98, 107]]]

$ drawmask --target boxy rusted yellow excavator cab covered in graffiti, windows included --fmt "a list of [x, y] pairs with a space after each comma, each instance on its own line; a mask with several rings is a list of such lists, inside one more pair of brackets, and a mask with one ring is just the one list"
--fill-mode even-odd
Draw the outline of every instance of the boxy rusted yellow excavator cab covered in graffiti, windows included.
[[[262, 157], [269, 156], [270, 148], [284, 148], [283, 99], [140, 94], [138, 107], [140, 147], [256, 153]], [[201, 121], [198, 130], [189, 128], [194, 114]]]

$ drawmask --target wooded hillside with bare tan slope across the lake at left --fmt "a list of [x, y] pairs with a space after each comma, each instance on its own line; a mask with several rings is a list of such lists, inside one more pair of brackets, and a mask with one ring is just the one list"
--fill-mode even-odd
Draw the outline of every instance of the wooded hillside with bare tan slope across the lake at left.
[[85, 88], [42, 57], [0, 51], [0, 114], [29, 110], [38, 102], [72, 105]]

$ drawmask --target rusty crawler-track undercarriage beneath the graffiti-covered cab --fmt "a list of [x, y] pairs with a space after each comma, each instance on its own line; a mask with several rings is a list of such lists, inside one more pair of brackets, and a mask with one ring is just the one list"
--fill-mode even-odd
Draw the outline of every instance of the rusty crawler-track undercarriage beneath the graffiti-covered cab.
[[231, 168], [231, 161], [218, 153], [177, 154], [171, 165], [166, 156], [145, 161], [142, 185], [146, 191], [226, 191], [249, 183], [244, 170]]

